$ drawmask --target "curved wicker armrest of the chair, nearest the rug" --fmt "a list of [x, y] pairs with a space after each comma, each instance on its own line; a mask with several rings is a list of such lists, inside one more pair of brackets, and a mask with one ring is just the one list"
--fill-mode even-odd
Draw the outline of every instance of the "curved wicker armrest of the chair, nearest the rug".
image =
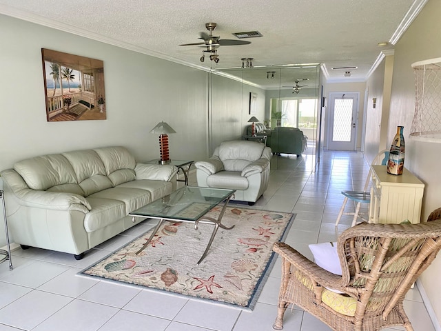
[[316, 263], [294, 250], [294, 248], [292, 248], [290, 245], [276, 242], [273, 245], [273, 250], [281, 257], [287, 259], [291, 265], [294, 265], [294, 268], [303, 272], [305, 275], [307, 275], [307, 277], [313, 279], [316, 283], [326, 288], [334, 288], [342, 292], [348, 292], [348, 288], [345, 286], [347, 284], [342, 283], [342, 277], [340, 275], [333, 274], [332, 272], [319, 267], [316, 265]]

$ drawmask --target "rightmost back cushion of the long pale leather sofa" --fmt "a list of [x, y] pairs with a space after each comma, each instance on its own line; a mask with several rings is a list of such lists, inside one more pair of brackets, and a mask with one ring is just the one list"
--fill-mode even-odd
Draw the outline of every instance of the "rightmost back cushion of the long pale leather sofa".
[[112, 181], [113, 186], [136, 179], [134, 172], [136, 161], [126, 148], [122, 146], [103, 147], [94, 148], [94, 151], [103, 161], [105, 174]]

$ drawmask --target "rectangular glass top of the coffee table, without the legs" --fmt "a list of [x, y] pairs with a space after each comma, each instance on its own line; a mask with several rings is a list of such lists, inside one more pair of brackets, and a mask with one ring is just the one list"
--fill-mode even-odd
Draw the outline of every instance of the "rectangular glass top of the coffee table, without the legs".
[[132, 217], [196, 221], [236, 190], [184, 186], [166, 197], [130, 212]]

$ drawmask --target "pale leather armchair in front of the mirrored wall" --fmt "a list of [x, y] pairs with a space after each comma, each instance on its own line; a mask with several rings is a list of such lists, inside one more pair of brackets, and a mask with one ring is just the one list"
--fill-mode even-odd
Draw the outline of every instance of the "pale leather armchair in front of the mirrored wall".
[[212, 157], [194, 163], [198, 186], [234, 189], [232, 200], [254, 205], [268, 187], [271, 156], [263, 143], [224, 141]]

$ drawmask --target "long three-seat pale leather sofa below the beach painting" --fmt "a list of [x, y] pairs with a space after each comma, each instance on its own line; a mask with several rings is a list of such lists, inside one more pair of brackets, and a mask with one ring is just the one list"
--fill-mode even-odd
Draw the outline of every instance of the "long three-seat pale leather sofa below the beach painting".
[[90, 248], [131, 228], [129, 212], [172, 193], [177, 171], [136, 163], [121, 146], [19, 161], [1, 172], [14, 242], [82, 259]]

